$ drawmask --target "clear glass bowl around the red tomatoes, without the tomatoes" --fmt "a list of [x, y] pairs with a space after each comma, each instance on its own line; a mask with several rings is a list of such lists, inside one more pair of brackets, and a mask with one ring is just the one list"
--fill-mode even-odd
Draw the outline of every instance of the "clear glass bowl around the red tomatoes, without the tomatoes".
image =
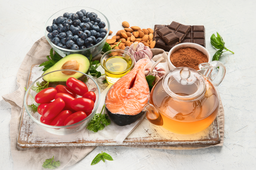
[[[87, 78], [87, 82], [85, 83], [88, 87], [88, 90], [89, 91], [92, 91], [95, 92], [96, 94], [96, 100], [95, 100], [95, 103], [94, 103], [94, 108], [92, 110], [92, 113], [87, 116], [84, 120], [80, 121], [80, 122], [77, 122], [75, 124], [72, 124], [72, 125], [68, 125], [68, 126], [51, 126], [51, 125], [47, 125], [47, 124], [44, 124], [44, 123], [41, 123], [40, 122], [40, 117], [41, 115], [38, 113], [38, 112], [31, 112], [29, 109], [28, 109], [28, 105], [31, 105], [32, 103], [34, 103], [36, 106], [38, 106], [38, 104], [35, 102], [35, 100], [33, 99], [35, 96], [36, 96], [36, 92], [31, 90], [31, 87], [33, 85], [36, 86], [36, 82], [39, 81], [39, 82], [42, 82], [44, 81], [43, 78], [44, 76], [46, 75], [50, 75], [50, 76], [56, 76], [56, 73], [57, 72], [60, 72], [62, 70], [56, 70], [56, 71], [52, 71], [52, 72], [49, 72], [47, 74], [44, 74], [43, 76], [37, 78], [27, 89], [27, 92], [25, 93], [25, 97], [24, 97], [24, 106], [25, 106], [25, 110], [26, 112], [28, 113], [29, 117], [38, 125], [40, 126], [42, 129], [44, 129], [45, 131], [49, 132], [49, 133], [52, 133], [52, 134], [55, 134], [55, 135], [67, 135], [67, 134], [70, 134], [70, 133], [74, 133], [74, 132], [77, 132], [79, 130], [82, 130], [83, 128], [85, 128], [87, 126], [87, 124], [92, 120], [93, 116], [95, 115], [96, 111], [97, 111], [97, 108], [99, 107], [99, 104], [100, 104], [100, 88], [99, 86], [97, 85], [97, 83], [90, 77], [88, 76], [87, 74], [85, 73], [82, 73], [80, 71], [75, 71], [75, 70], [72, 70], [72, 71], [75, 71], [75, 72], [78, 72], [81, 74], [81, 78], [79, 78], [78, 80], [85, 80], [85, 78]], [[69, 77], [73, 77], [72, 75], [68, 75], [68, 78]], [[67, 78], [67, 79], [68, 79]], [[66, 81], [65, 81], [66, 82]], [[60, 82], [59, 84], [61, 85], [65, 85], [66, 83], [63, 83], [63, 82]], [[49, 84], [48, 87], [56, 87], [56, 85], [58, 84], [55, 84], [55, 85], [51, 85]], [[32, 97], [30, 97], [29, 93], [32, 95]], [[77, 98], [79, 97], [82, 97], [82, 96], [78, 96], [77, 95]]]

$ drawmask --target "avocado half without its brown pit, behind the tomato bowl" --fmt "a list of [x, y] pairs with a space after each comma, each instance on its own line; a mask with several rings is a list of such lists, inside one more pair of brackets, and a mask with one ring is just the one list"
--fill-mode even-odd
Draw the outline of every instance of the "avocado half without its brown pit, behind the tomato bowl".
[[[62, 70], [61, 67], [63, 66], [63, 64], [69, 60], [71, 60], [71, 61], [76, 60], [77, 63], [79, 63], [78, 71], [83, 72], [85, 74], [87, 74], [89, 72], [90, 62], [87, 57], [85, 57], [84, 55], [81, 55], [81, 54], [70, 54], [70, 55], [67, 55], [66, 57], [60, 59], [60, 61], [55, 63], [51, 68], [44, 71], [44, 73], [42, 75], [49, 73], [51, 71]], [[74, 77], [76, 79], [83, 81], [85, 75], [82, 73], [66, 75], [66, 74], [63, 74], [61, 71], [56, 71], [56, 72], [50, 73], [48, 75], [45, 75], [43, 77], [43, 80], [47, 81], [47, 82], [49, 81], [49, 83], [53, 84], [53, 85], [59, 85], [59, 84], [66, 85], [66, 81], [70, 77]]]

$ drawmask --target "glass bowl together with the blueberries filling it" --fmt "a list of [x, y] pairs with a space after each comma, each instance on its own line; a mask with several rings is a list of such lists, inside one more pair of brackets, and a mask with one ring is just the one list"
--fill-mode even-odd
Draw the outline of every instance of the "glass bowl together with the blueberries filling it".
[[44, 35], [62, 57], [99, 54], [109, 33], [104, 14], [88, 7], [70, 7], [53, 14], [45, 23]]

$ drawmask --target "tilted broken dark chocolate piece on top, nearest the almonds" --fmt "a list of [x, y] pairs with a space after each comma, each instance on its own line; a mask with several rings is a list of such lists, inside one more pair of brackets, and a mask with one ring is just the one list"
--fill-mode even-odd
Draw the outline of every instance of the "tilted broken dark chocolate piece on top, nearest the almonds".
[[179, 37], [171, 29], [169, 29], [168, 27], [164, 27], [164, 28], [156, 31], [156, 33], [168, 45], [171, 45], [171, 44], [173, 44], [175, 42], [178, 42], [180, 40]]

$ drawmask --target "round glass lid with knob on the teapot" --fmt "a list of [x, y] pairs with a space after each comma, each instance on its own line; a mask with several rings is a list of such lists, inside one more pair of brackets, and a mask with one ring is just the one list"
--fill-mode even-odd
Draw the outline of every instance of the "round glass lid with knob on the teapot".
[[177, 100], [194, 100], [205, 90], [204, 77], [188, 67], [168, 71], [163, 80], [164, 90]]

